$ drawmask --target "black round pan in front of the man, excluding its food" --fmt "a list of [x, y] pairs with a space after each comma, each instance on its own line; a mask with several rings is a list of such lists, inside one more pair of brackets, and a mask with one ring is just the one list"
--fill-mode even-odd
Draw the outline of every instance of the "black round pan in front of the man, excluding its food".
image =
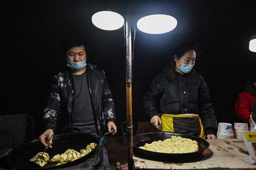
[[[67, 149], [71, 148], [76, 151], [80, 151], [81, 149], [85, 149], [88, 144], [96, 143], [98, 147], [98, 139], [90, 134], [61, 134], [53, 136], [53, 148], [48, 148], [46, 153], [48, 153], [50, 159], [53, 158], [54, 155], [64, 153]], [[96, 148], [97, 148], [96, 147]], [[33, 140], [28, 143], [24, 143], [14, 148], [8, 155], [7, 161], [9, 164], [14, 166], [17, 169], [54, 169], [54, 168], [64, 168], [69, 166], [74, 166], [76, 164], [82, 163], [86, 161], [90, 156], [95, 153], [95, 150], [92, 150], [87, 155], [76, 159], [75, 161], [71, 161], [66, 164], [62, 164], [59, 166], [55, 166], [54, 164], [45, 165], [45, 167], [41, 168], [38, 164], [32, 163], [29, 159], [33, 158], [38, 152], [43, 151], [45, 148], [41, 145], [39, 139]]]

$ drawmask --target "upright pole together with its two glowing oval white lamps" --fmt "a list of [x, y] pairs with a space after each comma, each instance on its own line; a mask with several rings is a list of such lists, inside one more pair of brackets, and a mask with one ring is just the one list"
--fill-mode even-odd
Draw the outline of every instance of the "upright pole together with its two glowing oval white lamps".
[[[132, 126], [132, 32], [131, 28], [129, 25], [129, 11], [130, 11], [130, 1], [128, 0], [128, 14], [125, 19], [125, 24], [124, 24], [124, 29], [125, 29], [125, 40], [126, 40], [126, 130], [127, 130], [127, 142], [128, 142], [128, 168], [134, 169], [134, 161], [132, 157], [134, 156], [133, 152], [133, 126]], [[111, 14], [111, 15], [110, 15]], [[121, 22], [117, 22], [116, 25], [111, 25], [112, 27], [108, 27], [109, 25], [105, 25], [102, 23], [103, 20], [109, 20], [109, 17], [113, 20], [121, 20]], [[147, 26], [146, 29], [145, 27], [142, 27], [143, 22], [152, 22], [153, 20], [158, 20], [161, 17], [161, 22], [158, 22], [157, 24], [153, 24], [154, 27], [153, 29], [148, 30], [148, 27], [151, 28], [150, 26]], [[92, 22], [93, 24], [101, 28], [103, 30], [116, 30], [118, 28], [121, 28], [123, 23], [124, 23], [124, 18], [116, 13], [116, 12], [111, 12], [111, 11], [101, 11], [101, 12], [96, 12], [92, 16]], [[158, 34], [158, 33], [166, 33], [170, 32], [173, 30], [176, 25], [177, 25], [177, 20], [174, 17], [171, 17], [169, 15], [164, 15], [164, 14], [153, 14], [153, 15], [148, 15], [148, 17], [145, 19], [143, 17], [143, 20], [138, 21], [139, 30], [145, 33], [153, 33], [153, 34]], [[137, 23], [137, 25], [138, 25]], [[167, 28], [166, 28], [166, 23], [168, 23]], [[172, 24], [169, 24], [172, 23]], [[158, 30], [156, 30], [155, 26], [158, 27]], [[164, 28], [164, 29], [163, 29]]]

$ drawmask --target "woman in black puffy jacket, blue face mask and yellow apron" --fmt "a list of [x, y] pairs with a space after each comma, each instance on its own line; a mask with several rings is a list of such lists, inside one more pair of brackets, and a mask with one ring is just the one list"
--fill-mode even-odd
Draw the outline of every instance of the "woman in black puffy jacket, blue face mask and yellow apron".
[[195, 45], [179, 44], [173, 66], [157, 75], [145, 93], [144, 107], [160, 130], [213, 139], [216, 117], [207, 83], [193, 68], [196, 56]]

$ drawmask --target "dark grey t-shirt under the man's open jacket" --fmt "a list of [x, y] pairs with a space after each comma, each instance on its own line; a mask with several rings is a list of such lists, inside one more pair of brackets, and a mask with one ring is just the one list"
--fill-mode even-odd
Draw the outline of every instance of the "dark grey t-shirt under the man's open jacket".
[[74, 114], [72, 132], [97, 135], [87, 74], [72, 75], [74, 79]]

